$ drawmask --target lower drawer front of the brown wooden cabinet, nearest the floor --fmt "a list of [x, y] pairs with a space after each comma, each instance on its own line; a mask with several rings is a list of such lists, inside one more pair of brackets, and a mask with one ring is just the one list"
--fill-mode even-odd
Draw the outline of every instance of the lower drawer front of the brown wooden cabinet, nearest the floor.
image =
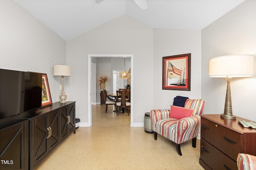
[[237, 170], [236, 161], [220, 152], [204, 139], [201, 139], [200, 158], [213, 170]]

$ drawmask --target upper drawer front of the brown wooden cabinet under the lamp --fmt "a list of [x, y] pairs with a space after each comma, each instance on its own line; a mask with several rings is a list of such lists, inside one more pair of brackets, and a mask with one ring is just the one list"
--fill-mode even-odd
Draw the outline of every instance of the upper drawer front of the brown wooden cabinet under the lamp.
[[201, 121], [201, 137], [233, 160], [243, 152], [242, 134], [204, 118]]

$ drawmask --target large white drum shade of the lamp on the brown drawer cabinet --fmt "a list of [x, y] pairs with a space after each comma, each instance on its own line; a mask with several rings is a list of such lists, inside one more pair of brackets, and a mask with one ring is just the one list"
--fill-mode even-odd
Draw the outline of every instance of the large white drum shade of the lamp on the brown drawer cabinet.
[[209, 60], [210, 77], [249, 77], [253, 74], [253, 55], [226, 55]]

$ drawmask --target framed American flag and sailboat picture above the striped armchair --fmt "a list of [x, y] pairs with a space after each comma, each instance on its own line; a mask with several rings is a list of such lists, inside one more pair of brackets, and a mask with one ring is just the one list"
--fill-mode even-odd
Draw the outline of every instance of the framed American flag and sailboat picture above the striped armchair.
[[191, 53], [163, 57], [163, 90], [190, 91]]

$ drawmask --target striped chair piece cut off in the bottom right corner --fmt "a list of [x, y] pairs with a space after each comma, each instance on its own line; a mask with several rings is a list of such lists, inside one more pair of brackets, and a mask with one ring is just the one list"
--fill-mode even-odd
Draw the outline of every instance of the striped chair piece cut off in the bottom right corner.
[[239, 153], [237, 156], [238, 170], [256, 170], [256, 156]]

